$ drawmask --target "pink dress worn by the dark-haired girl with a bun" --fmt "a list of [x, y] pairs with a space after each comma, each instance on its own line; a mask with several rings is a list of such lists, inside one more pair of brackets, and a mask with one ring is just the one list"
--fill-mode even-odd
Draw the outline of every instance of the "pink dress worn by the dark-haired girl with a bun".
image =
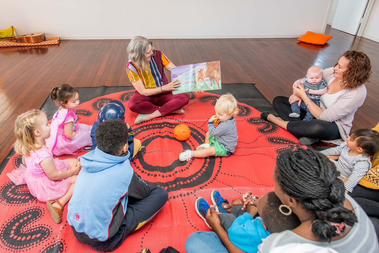
[[[53, 151], [54, 155], [75, 155], [83, 151], [83, 147], [92, 145], [92, 126], [75, 123], [78, 117], [69, 109], [60, 109], [53, 116], [51, 122], [50, 137], [46, 140], [46, 146]], [[77, 134], [71, 139], [64, 135], [64, 123], [73, 122], [72, 131]]]

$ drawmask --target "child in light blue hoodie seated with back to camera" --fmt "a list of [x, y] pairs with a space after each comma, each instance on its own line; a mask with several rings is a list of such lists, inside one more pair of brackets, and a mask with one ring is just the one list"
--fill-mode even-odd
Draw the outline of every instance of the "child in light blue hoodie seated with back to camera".
[[74, 236], [98, 251], [119, 247], [168, 199], [165, 189], [147, 186], [130, 166], [129, 130], [121, 119], [97, 126], [97, 147], [80, 157], [82, 169], [67, 207]]

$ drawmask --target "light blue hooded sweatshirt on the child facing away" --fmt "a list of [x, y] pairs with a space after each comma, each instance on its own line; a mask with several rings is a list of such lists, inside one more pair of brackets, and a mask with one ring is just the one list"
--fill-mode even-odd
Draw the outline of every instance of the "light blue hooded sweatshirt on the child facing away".
[[80, 157], [82, 166], [67, 207], [67, 221], [78, 233], [106, 241], [124, 219], [133, 176], [130, 151], [113, 156], [98, 147]]

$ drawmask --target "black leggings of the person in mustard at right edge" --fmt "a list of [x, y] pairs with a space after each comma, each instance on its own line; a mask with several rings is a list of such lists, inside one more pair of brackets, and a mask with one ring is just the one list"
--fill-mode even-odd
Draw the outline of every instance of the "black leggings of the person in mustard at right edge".
[[357, 201], [368, 216], [379, 218], [379, 190], [357, 184], [349, 195]]

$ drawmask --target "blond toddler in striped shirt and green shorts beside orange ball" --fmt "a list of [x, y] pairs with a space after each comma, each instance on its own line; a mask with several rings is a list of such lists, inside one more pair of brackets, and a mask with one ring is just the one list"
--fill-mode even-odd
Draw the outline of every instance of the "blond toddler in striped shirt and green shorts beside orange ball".
[[[208, 120], [208, 132], [205, 134], [205, 143], [196, 148], [196, 151], [186, 150], [179, 154], [181, 162], [189, 161], [193, 157], [230, 156], [237, 145], [236, 120], [233, 117], [238, 113], [237, 101], [232, 94], [222, 95], [215, 105], [216, 115]], [[219, 121], [217, 127], [215, 122]]]

